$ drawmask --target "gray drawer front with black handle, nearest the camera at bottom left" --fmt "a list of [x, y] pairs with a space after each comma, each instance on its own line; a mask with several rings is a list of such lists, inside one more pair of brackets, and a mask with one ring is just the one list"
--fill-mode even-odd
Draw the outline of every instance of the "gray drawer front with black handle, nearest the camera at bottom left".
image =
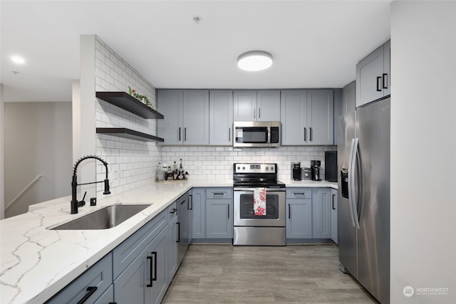
[[113, 283], [113, 256], [111, 253], [108, 253], [108, 255], [88, 268], [81, 276], [78, 276], [73, 282], [54, 295], [46, 304], [79, 303], [90, 293], [90, 289], [94, 288], [93, 293], [88, 297], [86, 302], [93, 303], [103, 295], [111, 283]]

